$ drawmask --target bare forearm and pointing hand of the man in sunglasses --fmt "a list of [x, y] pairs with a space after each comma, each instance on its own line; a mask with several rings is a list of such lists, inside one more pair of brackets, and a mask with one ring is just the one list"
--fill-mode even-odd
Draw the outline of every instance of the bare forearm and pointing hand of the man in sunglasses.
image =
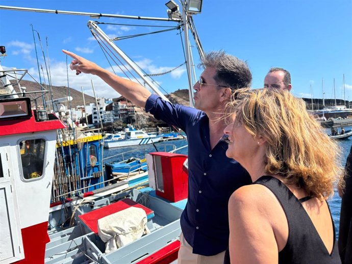
[[77, 75], [82, 72], [97, 75], [124, 98], [127, 98], [139, 107], [145, 107], [145, 102], [151, 93], [143, 86], [119, 77], [114, 73], [96, 65], [95, 63], [74, 54], [73, 52], [64, 49], [62, 51], [64, 54], [67, 54], [73, 59], [70, 64], [70, 69], [76, 70]]

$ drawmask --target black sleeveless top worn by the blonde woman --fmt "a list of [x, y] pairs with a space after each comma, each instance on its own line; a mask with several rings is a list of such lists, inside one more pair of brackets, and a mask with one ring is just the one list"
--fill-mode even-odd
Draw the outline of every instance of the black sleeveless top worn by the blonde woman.
[[[285, 248], [279, 252], [279, 264], [341, 263], [333, 219], [334, 247], [330, 255], [305, 208], [283, 182], [271, 176], [262, 176], [255, 183], [264, 185], [278, 198], [287, 217], [288, 240]], [[225, 252], [224, 263], [230, 263], [229, 249]]]

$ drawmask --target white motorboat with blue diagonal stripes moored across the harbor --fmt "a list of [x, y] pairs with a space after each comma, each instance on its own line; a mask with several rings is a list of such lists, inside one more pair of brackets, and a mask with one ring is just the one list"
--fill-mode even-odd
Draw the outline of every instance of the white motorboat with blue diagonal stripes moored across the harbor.
[[124, 134], [124, 138], [121, 139], [120, 135], [110, 135], [104, 140], [105, 148], [117, 148], [127, 147], [136, 145], [145, 145], [157, 143], [162, 137], [157, 135], [150, 135], [142, 130], [131, 130]]

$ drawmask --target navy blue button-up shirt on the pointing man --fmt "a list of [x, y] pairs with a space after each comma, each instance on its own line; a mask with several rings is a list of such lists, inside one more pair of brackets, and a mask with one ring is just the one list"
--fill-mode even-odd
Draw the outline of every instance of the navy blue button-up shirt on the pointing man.
[[219, 141], [211, 149], [209, 118], [203, 112], [150, 95], [145, 111], [185, 131], [188, 140], [188, 201], [181, 216], [183, 235], [194, 254], [216, 255], [229, 245], [228, 202], [251, 183], [249, 174], [225, 152]]

